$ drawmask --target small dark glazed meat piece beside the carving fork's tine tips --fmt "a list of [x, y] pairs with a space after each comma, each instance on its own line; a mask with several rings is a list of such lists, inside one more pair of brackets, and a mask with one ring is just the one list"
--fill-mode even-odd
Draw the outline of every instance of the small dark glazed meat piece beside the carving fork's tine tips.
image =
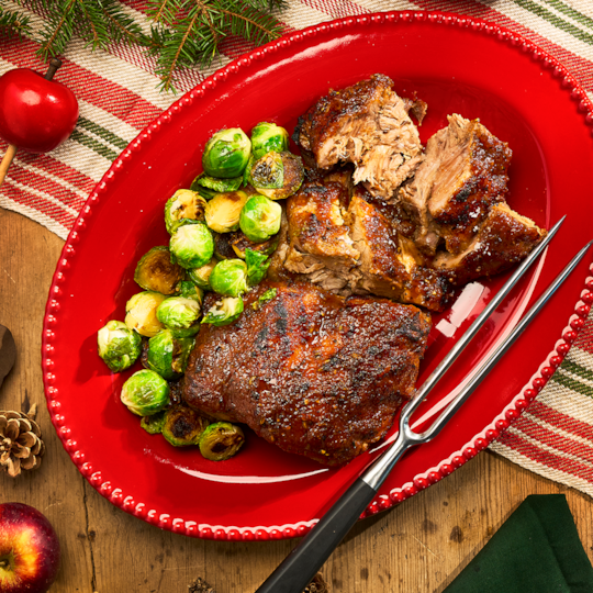
[[508, 269], [524, 259], [546, 234], [505, 203], [494, 204], [466, 250], [458, 255], [439, 253], [434, 266], [447, 271], [454, 283], [465, 284]]

